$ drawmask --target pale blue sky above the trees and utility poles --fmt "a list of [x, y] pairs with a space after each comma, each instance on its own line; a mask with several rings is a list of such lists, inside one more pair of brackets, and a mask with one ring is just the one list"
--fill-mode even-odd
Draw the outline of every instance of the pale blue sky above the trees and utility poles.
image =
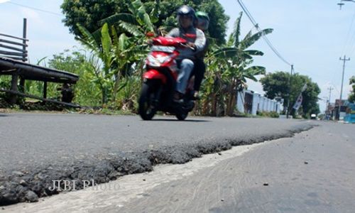
[[[295, 72], [311, 77], [321, 94], [320, 109], [325, 109], [325, 99], [333, 87], [331, 102], [339, 99], [342, 82], [342, 60], [346, 61], [344, 72], [343, 99], [351, 91], [349, 78], [355, 75], [355, 3], [340, 0], [244, 0], [244, 5], [261, 28], [273, 28], [268, 40], [278, 53], [295, 67]], [[227, 35], [231, 33], [234, 21], [242, 11], [236, 0], [219, 0], [230, 17]], [[0, 33], [22, 36], [23, 18], [27, 18], [28, 53], [31, 63], [52, 55], [80, 48], [74, 35], [64, 26], [65, 18], [60, 10], [62, 0], [0, 0]], [[48, 12], [45, 12], [48, 11]], [[241, 36], [250, 30], [255, 33], [249, 18], [243, 15]], [[261, 50], [264, 55], [256, 57], [254, 65], [266, 67], [267, 72], [290, 72], [290, 65], [280, 60], [266, 42], [258, 40], [251, 49]], [[260, 77], [259, 77], [260, 78]], [[259, 82], [248, 82], [249, 89], [264, 94]]]

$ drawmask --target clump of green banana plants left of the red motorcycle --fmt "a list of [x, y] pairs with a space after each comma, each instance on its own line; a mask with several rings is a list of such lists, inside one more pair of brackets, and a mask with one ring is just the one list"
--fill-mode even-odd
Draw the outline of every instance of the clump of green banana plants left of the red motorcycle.
[[129, 72], [133, 64], [138, 65], [148, 52], [146, 33], [153, 31], [153, 22], [158, 21], [158, 4], [151, 15], [146, 13], [140, 0], [132, 1], [129, 10], [131, 13], [104, 18], [102, 28], [94, 33], [78, 25], [82, 33], [78, 40], [95, 57], [90, 60], [92, 69], [89, 70], [102, 91], [102, 104], [115, 101], [117, 92], [125, 87], [126, 84], [120, 84], [121, 77]]

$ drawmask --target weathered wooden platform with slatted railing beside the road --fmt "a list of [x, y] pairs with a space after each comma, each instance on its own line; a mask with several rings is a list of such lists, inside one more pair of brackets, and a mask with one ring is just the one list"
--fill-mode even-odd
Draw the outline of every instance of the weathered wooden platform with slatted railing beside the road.
[[[79, 80], [79, 76], [62, 70], [29, 64], [27, 62], [28, 39], [26, 38], [26, 26], [26, 18], [23, 18], [23, 38], [0, 33], [0, 75], [11, 75], [11, 89], [0, 88], [0, 92], [6, 92], [11, 95], [11, 99], [9, 100], [11, 104], [15, 104], [17, 97], [22, 96], [39, 99], [43, 102], [54, 102], [56, 104], [65, 104], [69, 107], [78, 107], [76, 104], [67, 103], [71, 102], [72, 97], [68, 98], [63, 95], [62, 102], [47, 99], [47, 82], [62, 83], [62, 88], [65, 88], [70, 87], [69, 85], [71, 84], [75, 84]], [[43, 82], [43, 97], [26, 94], [24, 87], [25, 80]]]

